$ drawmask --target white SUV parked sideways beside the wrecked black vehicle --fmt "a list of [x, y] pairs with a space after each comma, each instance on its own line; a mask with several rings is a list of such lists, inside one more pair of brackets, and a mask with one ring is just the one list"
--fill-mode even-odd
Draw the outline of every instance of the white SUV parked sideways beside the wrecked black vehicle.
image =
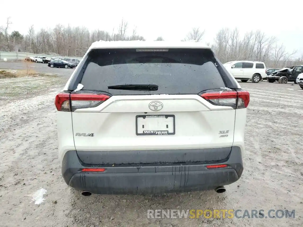
[[265, 64], [261, 61], [229, 61], [224, 67], [235, 79], [242, 82], [251, 80], [258, 83], [267, 77]]

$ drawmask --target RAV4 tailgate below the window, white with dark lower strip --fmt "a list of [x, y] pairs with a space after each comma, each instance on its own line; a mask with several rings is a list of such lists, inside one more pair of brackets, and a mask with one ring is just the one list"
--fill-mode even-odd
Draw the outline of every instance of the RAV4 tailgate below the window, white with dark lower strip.
[[[163, 108], [152, 111], [154, 102]], [[198, 95], [113, 96], [98, 107], [75, 110], [72, 121], [85, 163], [199, 162], [228, 156], [235, 110]]]

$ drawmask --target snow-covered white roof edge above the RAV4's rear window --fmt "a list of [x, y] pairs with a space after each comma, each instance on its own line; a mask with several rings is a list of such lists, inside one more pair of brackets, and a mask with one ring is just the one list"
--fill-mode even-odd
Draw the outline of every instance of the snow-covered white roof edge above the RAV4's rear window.
[[194, 41], [96, 41], [92, 43], [89, 49], [103, 48], [204, 48], [210, 49], [209, 46], [202, 42]]

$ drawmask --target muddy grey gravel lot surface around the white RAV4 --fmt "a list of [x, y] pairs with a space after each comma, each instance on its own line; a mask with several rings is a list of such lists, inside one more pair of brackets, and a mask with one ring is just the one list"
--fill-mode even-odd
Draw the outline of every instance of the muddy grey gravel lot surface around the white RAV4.
[[[57, 88], [46, 83], [48, 91], [19, 94], [1, 105], [1, 226], [302, 226], [303, 90], [298, 85], [241, 83], [251, 93], [245, 169], [225, 193], [83, 197], [61, 176], [54, 97], [72, 70], [55, 70], [62, 72]], [[47, 190], [45, 200], [36, 205], [32, 196], [41, 188]], [[295, 219], [147, 219], [147, 209], [295, 209]]]

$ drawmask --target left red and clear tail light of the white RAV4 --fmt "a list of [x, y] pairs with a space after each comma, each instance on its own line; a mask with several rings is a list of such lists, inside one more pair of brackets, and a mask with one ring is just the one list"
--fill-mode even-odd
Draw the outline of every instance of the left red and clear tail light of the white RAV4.
[[105, 94], [59, 93], [55, 98], [55, 106], [58, 111], [71, 112], [77, 109], [96, 107], [109, 98], [110, 96]]

